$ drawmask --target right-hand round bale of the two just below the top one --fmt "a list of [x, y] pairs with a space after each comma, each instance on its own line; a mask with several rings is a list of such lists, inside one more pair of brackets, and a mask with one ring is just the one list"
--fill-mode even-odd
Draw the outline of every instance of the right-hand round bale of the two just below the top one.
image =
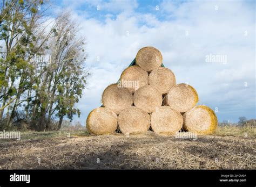
[[176, 85], [176, 78], [170, 69], [159, 67], [151, 71], [149, 84], [156, 88], [161, 94], [165, 94]]

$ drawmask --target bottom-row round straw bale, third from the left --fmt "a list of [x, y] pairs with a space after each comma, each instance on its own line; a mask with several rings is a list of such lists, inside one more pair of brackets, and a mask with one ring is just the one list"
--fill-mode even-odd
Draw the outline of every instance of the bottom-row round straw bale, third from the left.
[[151, 115], [151, 128], [158, 134], [171, 135], [181, 130], [183, 117], [170, 106], [160, 106]]

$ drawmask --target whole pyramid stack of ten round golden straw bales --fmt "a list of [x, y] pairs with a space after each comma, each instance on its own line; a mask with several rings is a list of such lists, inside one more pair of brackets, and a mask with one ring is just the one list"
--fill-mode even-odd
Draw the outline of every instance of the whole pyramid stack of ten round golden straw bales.
[[[90, 112], [86, 120], [91, 134], [176, 134], [181, 128], [211, 134], [217, 117], [207, 106], [197, 105], [197, 91], [188, 84], [176, 84], [173, 72], [163, 66], [163, 56], [154, 47], [144, 47], [136, 64], [126, 68], [116, 84], [103, 92], [103, 106]], [[150, 128], [151, 127], [151, 128]]]

